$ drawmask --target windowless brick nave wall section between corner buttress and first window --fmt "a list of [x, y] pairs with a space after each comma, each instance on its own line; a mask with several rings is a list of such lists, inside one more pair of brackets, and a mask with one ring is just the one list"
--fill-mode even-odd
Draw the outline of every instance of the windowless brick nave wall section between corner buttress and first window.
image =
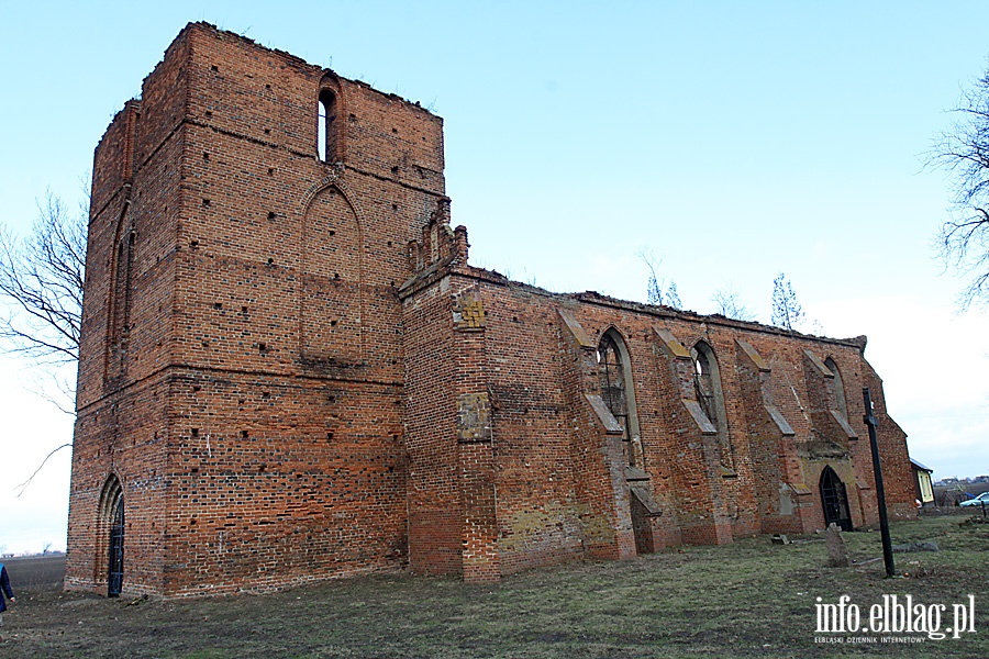
[[519, 291], [504, 304], [503, 287], [463, 281], [485, 312], [490, 424], [497, 462], [498, 551], [503, 573], [558, 562], [584, 551], [576, 500], [566, 400], [568, 356], [554, 310]]

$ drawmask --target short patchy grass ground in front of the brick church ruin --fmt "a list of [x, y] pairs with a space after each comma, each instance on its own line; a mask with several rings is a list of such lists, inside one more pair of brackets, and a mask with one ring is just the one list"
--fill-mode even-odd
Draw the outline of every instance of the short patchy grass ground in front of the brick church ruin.
[[[989, 524], [929, 517], [893, 526], [886, 579], [878, 532], [845, 534], [852, 557], [826, 568], [816, 537], [682, 547], [631, 561], [533, 570], [496, 585], [407, 574], [335, 581], [265, 595], [195, 601], [103, 600], [35, 589], [4, 615], [0, 657], [989, 657]], [[904, 577], [903, 574], [909, 574]], [[884, 594], [945, 604], [975, 595], [975, 629], [815, 634], [816, 597], [849, 595], [868, 622]], [[826, 636], [832, 641], [818, 643]], [[853, 638], [875, 637], [855, 644]], [[913, 638], [910, 645], [881, 638]]]

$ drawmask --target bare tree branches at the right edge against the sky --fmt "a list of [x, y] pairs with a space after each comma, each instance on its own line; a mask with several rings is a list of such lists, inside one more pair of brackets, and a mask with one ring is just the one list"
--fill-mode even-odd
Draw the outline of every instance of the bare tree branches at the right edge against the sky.
[[989, 71], [965, 90], [955, 121], [926, 154], [926, 165], [945, 170], [953, 210], [938, 236], [948, 267], [968, 278], [963, 309], [989, 303]]

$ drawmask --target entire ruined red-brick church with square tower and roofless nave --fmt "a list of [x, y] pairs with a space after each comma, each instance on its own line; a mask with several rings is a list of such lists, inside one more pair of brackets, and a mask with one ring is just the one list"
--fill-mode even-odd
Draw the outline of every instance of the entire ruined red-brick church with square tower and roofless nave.
[[497, 580], [891, 514], [865, 338], [470, 266], [443, 122], [195, 23], [93, 163], [66, 588]]

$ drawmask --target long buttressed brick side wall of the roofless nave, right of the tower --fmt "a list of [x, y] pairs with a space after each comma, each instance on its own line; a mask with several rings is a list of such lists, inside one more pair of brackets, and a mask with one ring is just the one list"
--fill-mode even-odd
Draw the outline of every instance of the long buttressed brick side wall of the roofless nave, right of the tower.
[[[860, 395], [855, 398], [864, 383], [874, 389], [876, 383], [857, 339], [790, 334], [593, 293], [558, 295], [469, 267], [442, 275], [431, 275], [432, 284], [421, 282], [409, 299], [419, 300], [415, 304], [407, 300], [407, 346], [416, 346], [407, 358], [421, 362], [418, 350], [430, 336], [441, 353], [451, 355], [444, 380], [456, 381], [457, 369], [484, 366], [475, 376], [490, 396], [497, 474], [490, 487], [497, 499], [501, 573], [582, 554], [620, 558], [680, 541], [813, 533], [825, 526], [820, 481], [826, 467], [845, 484], [853, 524], [876, 522], [875, 503], [868, 499], [874, 483], [867, 432]], [[422, 303], [426, 298], [429, 308]], [[482, 364], [463, 360], [454, 338], [465, 299], [484, 309], [484, 332], [474, 335], [484, 338]], [[414, 324], [408, 321], [412, 310]], [[581, 350], [592, 356], [605, 332], [618, 332], [627, 349], [642, 444], [635, 467], [645, 472], [626, 469], [620, 482], [608, 473], [621, 450], [609, 448], [607, 427], [588, 404], [594, 392], [589, 371], [596, 366], [581, 362]], [[719, 365], [721, 423], [726, 424], [721, 445], [698, 416], [703, 411], [693, 389], [690, 348], [700, 340]], [[837, 384], [824, 360], [841, 369]], [[838, 410], [838, 384], [847, 410]], [[426, 417], [448, 418], [456, 409], [455, 392], [444, 395], [446, 402], [430, 399]], [[903, 467], [905, 443], [885, 416], [881, 400], [874, 398], [889, 455], [884, 458], [889, 462], [886, 480], [893, 483], [887, 485], [888, 500], [894, 510], [907, 511], [909, 494], [901, 491], [910, 482]], [[409, 405], [410, 414], [426, 411], [411, 400]], [[425, 422], [409, 427], [410, 442], [430, 436]], [[449, 458], [454, 450], [448, 442], [431, 455]], [[432, 468], [433, 478], [445, 483], [465, 473], [452, 458]], [[636, 488], [647, 496], [635, 496]], [[459, 500], [456, 492], [448, 496]], [[470, 515], [449, 512], [446, 532], [453, 539], [456, 525]], [[465, 521], [458, 522], [457, 514], [465, 514]], [[633, 514], [649, 514], [649, 520], [631, 520]], [[634, 546], [631, 535], [622, 535], [633, 524]], [[460, 533], [467, 537], [466, 526]]]

